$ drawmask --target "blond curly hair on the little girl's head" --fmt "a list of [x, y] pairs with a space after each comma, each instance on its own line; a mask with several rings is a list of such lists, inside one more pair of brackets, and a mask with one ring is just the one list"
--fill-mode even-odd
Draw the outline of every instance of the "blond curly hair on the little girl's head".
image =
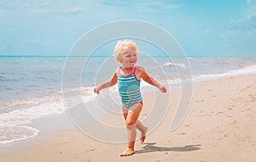
[[137, 53], [137, 45], [131, 39], [120, 40], [116, 43], [114, 50], [113, 50], [113, 57], [114, 59], [120, 63], [120, 59], [122, 54], [127, 52], [128, 50], [135, 50]]

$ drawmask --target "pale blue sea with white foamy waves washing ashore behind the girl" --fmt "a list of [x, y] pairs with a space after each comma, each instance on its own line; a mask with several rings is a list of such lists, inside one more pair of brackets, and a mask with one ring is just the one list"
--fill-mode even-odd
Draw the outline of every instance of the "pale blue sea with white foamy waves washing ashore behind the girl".
[[[34, 120], [61, 115], [65, 107], [62, 85], [67, 56], [0, 56], [0, 146], [28, 140], [41, 133]], [[84, 59], [79, 72], [70, 70], [70, 78], [80, 78], [79, 89], [84, 102], [96, 102], [93, 88], [108, 80], [119, 67], [112, 56]], [[180, 60], [180, 61], [179, 61]], [[139, 55], [137, 65], [168, 88], [182, 87], [182, 80], [200, 81], [256, 73], [256, 58], [183, 58]], [[186, 74], [183, 77], [183, 73]], [[79, 74], [79, 76], [78, 76]], [[186, 83], [188, 84], [188, 83]], [[143, 82], [142, 87], [149, 87]], [[154, 88], [154, 87], [153, 87]], [[148, 91], [148, 88], [143, 88]], [[117, 93], [113, 87], [112, 93]], [[104, 95], [104, 94], [100, 94]], [[72, 109], [72, 108], [69, 108]]]

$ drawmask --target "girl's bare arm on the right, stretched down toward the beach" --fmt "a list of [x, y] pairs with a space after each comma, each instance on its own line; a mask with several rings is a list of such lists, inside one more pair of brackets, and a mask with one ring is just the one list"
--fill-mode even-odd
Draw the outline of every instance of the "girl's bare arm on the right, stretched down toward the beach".
[[155, 81], [152, 76], [148, 75], [143, 67], [140, 67], [140, 70], [142, 71], [141, 77], [143, 78], [143, 81], [148, 82], [148, 84], [151, 84], [154, 87], [158, 87], [160, 92], [167, 92], [166, 87], [162, 86], [158, 81]]

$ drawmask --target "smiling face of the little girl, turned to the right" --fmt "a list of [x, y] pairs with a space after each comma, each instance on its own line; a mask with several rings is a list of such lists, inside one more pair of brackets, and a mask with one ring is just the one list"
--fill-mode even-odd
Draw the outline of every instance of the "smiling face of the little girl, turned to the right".
[[127, 52], [125, 52], [120, 60], [120, 63], [125, 68], [131, 68], [137, 63], [137, 52], [136, 50], [130, 49]]

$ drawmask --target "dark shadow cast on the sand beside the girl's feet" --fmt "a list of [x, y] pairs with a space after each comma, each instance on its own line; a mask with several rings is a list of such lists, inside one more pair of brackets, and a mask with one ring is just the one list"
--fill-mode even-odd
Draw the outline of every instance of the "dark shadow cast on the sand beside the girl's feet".
[[172, 148], [166, 148], [166, 147], [158, 147], [154, 146], [156, 142], [148, 142], [148, 143], [143, 143], [146, 146], [143, 147], [142, 150], [137, 150], [135, 151], [136, 154], [141, 154], [141, 153], [150, 153], [150, 152], [167, 152], [167, 151], [176, 151], [176, 152], [189, 152], [189, 151], [195, 151], [201, 146], [201, 144], [195, 144], [195, 145], [187, 145], [183, 147], [172, 147]]

